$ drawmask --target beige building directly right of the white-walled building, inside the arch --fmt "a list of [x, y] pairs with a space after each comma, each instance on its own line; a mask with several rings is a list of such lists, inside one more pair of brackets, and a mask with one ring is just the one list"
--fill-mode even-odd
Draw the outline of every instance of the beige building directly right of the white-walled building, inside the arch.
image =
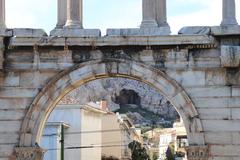
[[102, 134], [102, 142], [112, 146], [102, 149], [103, 156], [115, 157], [119, 160], [131, 159], [128, 144], [133, 140], [142, 143], [142, 139], [130, 119], [124, 114], [110, 112], [103, 116], [102, 122], [103, 131], [107, 131]]

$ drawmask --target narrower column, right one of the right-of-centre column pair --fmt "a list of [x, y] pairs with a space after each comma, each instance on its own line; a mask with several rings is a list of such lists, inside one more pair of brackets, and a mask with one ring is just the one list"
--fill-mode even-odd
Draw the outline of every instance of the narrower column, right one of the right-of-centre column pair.
[[158, 27], [169, 27], [167, 23], [166, 0], [156, 0], [156, 20], [158, 23]]

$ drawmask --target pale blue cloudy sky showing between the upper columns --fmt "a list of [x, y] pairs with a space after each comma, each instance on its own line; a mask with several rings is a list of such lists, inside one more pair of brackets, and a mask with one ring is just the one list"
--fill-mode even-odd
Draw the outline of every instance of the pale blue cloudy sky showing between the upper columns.
[[[167, 0], [173, 34], [183, 26], [219, 25], [222, 0]], [[240, 23], [240, 0], [236, 0]], [[57, 0], [6, 0], [9, 28], [52, 30], [57, 20]], [[141, 0], [84, 0], [84, 28], [136, 28], [141, 24]]]

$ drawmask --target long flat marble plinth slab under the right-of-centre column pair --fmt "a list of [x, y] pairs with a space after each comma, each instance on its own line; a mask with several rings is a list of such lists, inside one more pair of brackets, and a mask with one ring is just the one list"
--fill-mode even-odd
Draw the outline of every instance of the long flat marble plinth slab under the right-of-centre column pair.
[[169, 27], [107, 29], [107, 36], [164, 36], [170, 33]]

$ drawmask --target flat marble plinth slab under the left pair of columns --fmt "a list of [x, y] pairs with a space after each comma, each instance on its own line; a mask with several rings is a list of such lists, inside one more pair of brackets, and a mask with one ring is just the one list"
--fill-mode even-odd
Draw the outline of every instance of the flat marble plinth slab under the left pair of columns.
[[99, 29], [80, 29], [80, 28], [63, 28], [54, 29], [50, 32], [52, 37], [101, 37]]

